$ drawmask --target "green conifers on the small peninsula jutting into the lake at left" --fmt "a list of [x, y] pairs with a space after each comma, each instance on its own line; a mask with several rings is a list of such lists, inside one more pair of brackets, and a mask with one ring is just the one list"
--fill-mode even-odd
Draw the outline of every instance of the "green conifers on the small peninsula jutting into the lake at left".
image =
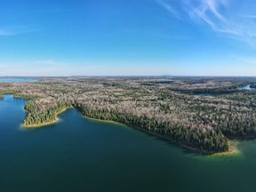
[[48, 124], [56, 121], [57, 114], [65, 108], [70, 108], [71, 105], [67, 103], [58, 103], [57, 106], [53, 106], [40, 112], [35, 101], [28, 100], [25, 106], [25, 110], [28, 112], [27, 118], [24, 120], [24, 126], [36, 126], [40, 124]]

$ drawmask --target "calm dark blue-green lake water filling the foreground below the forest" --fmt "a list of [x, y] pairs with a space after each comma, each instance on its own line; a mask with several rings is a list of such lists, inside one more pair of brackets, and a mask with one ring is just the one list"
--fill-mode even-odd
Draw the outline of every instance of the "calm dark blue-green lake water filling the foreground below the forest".
[[22, 130], [25, 100], [0, 100], [1, 192], [255, 191], [256, 141], [201, 156], [124, 125], [84, 118]]

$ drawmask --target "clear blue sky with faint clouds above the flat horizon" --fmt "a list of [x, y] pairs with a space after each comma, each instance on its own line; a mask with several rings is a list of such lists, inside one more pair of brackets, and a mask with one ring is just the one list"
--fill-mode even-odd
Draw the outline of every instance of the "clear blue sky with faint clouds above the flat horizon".
[[256, 76], [254, 0], [0, 0], [0, 76]]

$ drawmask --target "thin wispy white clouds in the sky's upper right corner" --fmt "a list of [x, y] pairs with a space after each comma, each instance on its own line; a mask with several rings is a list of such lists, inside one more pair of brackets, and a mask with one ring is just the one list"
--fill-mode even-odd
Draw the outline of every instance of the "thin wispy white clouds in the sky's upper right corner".
[[[238, 1], [231, 0], [158, 0], [174, 17], [190, 20], [197, 25], [205, 25], [221, 36], [236, 39], [256, 48], [256, 15], [255, 6], [244, 1], [243, 6]], [[254, 7], [253, 7], [254, 6]]]

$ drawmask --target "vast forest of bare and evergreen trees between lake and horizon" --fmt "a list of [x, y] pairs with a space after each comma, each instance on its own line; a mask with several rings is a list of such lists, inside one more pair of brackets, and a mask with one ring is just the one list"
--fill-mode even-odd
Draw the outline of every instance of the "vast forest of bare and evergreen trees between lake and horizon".
[[[228, 150], [228, 138], [256, 137], [255, 78], [44, 78], [2, 83], [0, 96], [28, 100], [24, 126], [56, 121], [63, 109], [130, 125], [200, 151]], [[211, 96], [202, 93], [211, 93]], [[198, 94], [198, 95], [197, 95]]]

